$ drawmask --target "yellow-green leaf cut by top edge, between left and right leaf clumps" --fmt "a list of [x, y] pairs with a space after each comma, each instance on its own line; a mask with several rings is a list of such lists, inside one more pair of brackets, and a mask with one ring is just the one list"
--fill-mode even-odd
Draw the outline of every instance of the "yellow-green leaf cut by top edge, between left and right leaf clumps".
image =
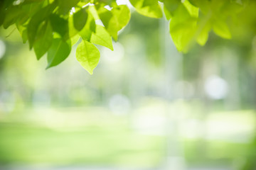
[[161, 18], [163, 13], [157, 0], [129, 0], [136, 11], [151, 18]]

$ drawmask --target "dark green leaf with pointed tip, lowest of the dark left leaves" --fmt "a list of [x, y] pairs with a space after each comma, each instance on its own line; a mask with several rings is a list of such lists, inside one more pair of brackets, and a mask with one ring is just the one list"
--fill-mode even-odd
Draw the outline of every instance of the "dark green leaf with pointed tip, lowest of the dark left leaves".
[[62, 39], [53, 39], [53, 43], [48, 50], [47, 61], [48, 66], [46, 69], [56, 66], [63, 62], [70, 54], [70, 43], [63, 41]]

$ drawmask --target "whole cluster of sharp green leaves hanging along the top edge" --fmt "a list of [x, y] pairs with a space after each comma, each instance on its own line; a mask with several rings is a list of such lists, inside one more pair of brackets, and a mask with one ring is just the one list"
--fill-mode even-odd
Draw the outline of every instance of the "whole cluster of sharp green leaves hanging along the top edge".
[[[129, 0], [138, 13], [170, 20], [169, 30], [177, 49], [186, 52], [192, 42], [204, 45], [213, 30], [222, 38], [231, 38], [227, 21], [235, 18], [250, 0]], [[0, 26], [15, 24], [23, 42], [39, 60], [47, 53], [48, 66], [53, 67], [77, 47], [78, 62], [92, 74], [100, 60], [94, 44], [110, 50], [112, 38], [129, 23], [127, 5], [116, 0], [1, 0]]]

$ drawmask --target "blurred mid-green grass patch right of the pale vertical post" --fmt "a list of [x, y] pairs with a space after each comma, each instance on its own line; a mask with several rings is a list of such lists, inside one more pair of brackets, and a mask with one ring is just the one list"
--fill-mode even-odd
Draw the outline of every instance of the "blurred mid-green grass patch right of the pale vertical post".
[[186, 140], [186, 142], [184, 142], [186, 162], [188, 165], [192, 166], [233, 166], [236, 160], [245, 157], [248, 146], [248, 143], [227, 142], [222, 140]]

